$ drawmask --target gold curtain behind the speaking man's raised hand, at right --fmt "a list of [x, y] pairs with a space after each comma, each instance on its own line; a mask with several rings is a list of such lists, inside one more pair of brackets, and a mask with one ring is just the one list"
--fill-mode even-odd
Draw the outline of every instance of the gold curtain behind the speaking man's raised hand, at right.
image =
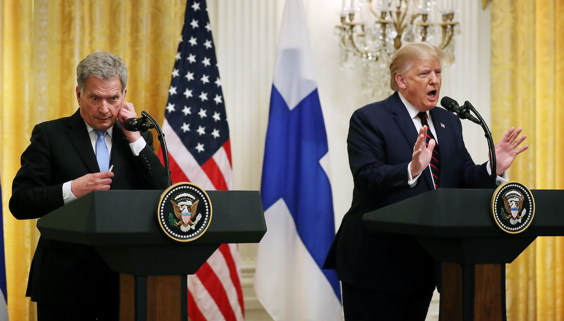
[[[509, 176], [530, 189], [564, 188], [564, 3], [491, 1], [493, 136], [523, 127], [531, 146]], [[506, 269], [510, 321], [564, 320], [564, 239], [542, 237]]]

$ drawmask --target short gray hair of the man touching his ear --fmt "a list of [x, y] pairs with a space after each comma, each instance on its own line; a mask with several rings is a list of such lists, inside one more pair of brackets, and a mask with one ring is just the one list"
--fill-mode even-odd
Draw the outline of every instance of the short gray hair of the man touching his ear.
[[120, 57], [110, 52], [94, 52], [78, 63], [78, 66], [76, 66], [76, 82], [81, 93], [86, 87], [86, 80], [90, 75], [104, 80], [117, 77], [121, 82], [121, 93], [125, 92], [127, 67]]

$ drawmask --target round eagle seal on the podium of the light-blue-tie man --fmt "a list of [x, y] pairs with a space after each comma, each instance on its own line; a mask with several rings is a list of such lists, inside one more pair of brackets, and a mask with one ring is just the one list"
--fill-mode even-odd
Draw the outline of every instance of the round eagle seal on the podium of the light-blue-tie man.
[[204, 234], [211, 222], [211, 202], [199, 186], [180, 182], [161, 195], [158, 224], [170, 238], [190, 242]]

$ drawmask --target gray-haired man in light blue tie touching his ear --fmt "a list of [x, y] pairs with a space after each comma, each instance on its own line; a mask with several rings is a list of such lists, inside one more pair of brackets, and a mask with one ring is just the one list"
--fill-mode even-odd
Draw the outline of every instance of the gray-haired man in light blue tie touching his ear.
[[[93, 190], [165, 189], [166, 175], [151, 132], [125, 130], [136, 118], [125, 101], [127, 68], [96, 52], [77, 66], [80, 108], [37, 124], [12, 184], [10, 211], [37, 219]], [[27, 296], [42, 320], [117, 320], [119, 278], [94, 248], [39, 238]]]

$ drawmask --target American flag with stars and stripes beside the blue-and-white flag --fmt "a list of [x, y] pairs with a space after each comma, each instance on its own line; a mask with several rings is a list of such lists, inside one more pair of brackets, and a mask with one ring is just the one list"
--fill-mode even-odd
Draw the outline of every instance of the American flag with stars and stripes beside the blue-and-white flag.
[[[232, 188], [229, 127], [205, 1], [186, 5], [162, 131], [173, 182], [190, 181], [204, 190]], [[188, 275], [190, 319], [243, 320], [240, 279], [237, 244], [222, 244]]]

